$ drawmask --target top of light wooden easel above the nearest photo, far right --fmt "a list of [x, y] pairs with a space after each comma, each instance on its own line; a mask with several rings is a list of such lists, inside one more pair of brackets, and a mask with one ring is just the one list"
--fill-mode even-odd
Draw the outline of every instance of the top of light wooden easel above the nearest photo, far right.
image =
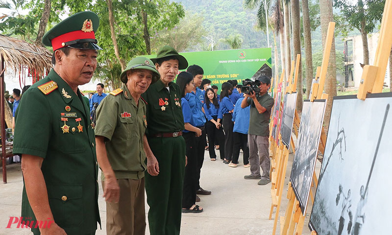
[[[374, 59], [374, 66], [365, 65], [361, 77], [357, 98], [365, 100], [368, 93], [381, 93], [384, 76], [387, 70], [388, 58], [392, 47], [392, 0], [386, 0], [380, 36]], [[326, 139], [325, 139], [326, 141]], [[325, 145], [324, 145], [325, 146]], [[312, 235], [317, 235], [312, 231]]]

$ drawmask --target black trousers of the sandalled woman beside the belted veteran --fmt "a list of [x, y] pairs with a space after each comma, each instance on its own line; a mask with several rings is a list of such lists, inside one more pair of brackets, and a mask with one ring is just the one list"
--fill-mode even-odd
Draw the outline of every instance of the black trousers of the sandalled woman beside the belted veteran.
[[182, 208], [190, 208], [196, 202], [197, 155], [195, 132], [183, 132], [188, 164], [185, 166], [184, 187], [182, 188]]

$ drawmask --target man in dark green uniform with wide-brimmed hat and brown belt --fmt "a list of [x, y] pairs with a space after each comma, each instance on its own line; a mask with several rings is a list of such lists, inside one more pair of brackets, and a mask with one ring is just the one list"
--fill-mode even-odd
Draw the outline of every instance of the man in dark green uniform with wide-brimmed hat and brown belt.
[[148, 103], [146, 135], [152, 150], [146, 151], [148, 225], [151, 235], [179, 235], [186, 157], [180, 88], [173, 80], [188, 62], [169, 46], [151, 60], [161, 78], [142, 94]]

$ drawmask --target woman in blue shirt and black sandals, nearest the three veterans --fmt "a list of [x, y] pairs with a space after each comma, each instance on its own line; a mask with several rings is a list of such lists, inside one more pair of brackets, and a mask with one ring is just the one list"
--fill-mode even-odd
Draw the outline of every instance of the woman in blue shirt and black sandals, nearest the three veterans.
[[196, 203], [196, 175], [197, 175], [197, 156], [192, 151], [196, 148], [196, 137], [201, 136], [201, 130], [195, 126], [189, 100], [185, 95], [192, 92], [194, 87], [193, 75], [189, 72], [180, 72], [177, 76], [177, 85], [181, 92], [181, 107], [184, 116], [185, 130], [182, 137], [186, 144], [187, 165], [185, 166], [184, 185], [182, 188], [182, 212], [200, 213], [203, 209]]

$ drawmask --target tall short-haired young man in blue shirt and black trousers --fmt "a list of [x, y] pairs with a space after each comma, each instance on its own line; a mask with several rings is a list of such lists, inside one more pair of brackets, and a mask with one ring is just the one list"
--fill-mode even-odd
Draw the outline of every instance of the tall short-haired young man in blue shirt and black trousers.
[[191, 108], [192, 115], [194, 116], [195, 124], [197, 125], [196, 127], [201, 130], [201, 136], [196, 137], [195, 149], [197, 156], [196, 194], [209, 195], [211, 194], [211, 191], [204, 190], [200, 187], [200, 170], [203, 166], [204, 147], [206, 141], [206, 130], [204, 129], [206, 118], [203, 109], [204, 95], [199, 86], [201, 85], [204, 71], [198, 65], [191, 65], [188, 67], [187, 72], [193, 75], [195, 86], [192, 93], [186, 94], [185, 98], [189, 101], [189, 106]]

